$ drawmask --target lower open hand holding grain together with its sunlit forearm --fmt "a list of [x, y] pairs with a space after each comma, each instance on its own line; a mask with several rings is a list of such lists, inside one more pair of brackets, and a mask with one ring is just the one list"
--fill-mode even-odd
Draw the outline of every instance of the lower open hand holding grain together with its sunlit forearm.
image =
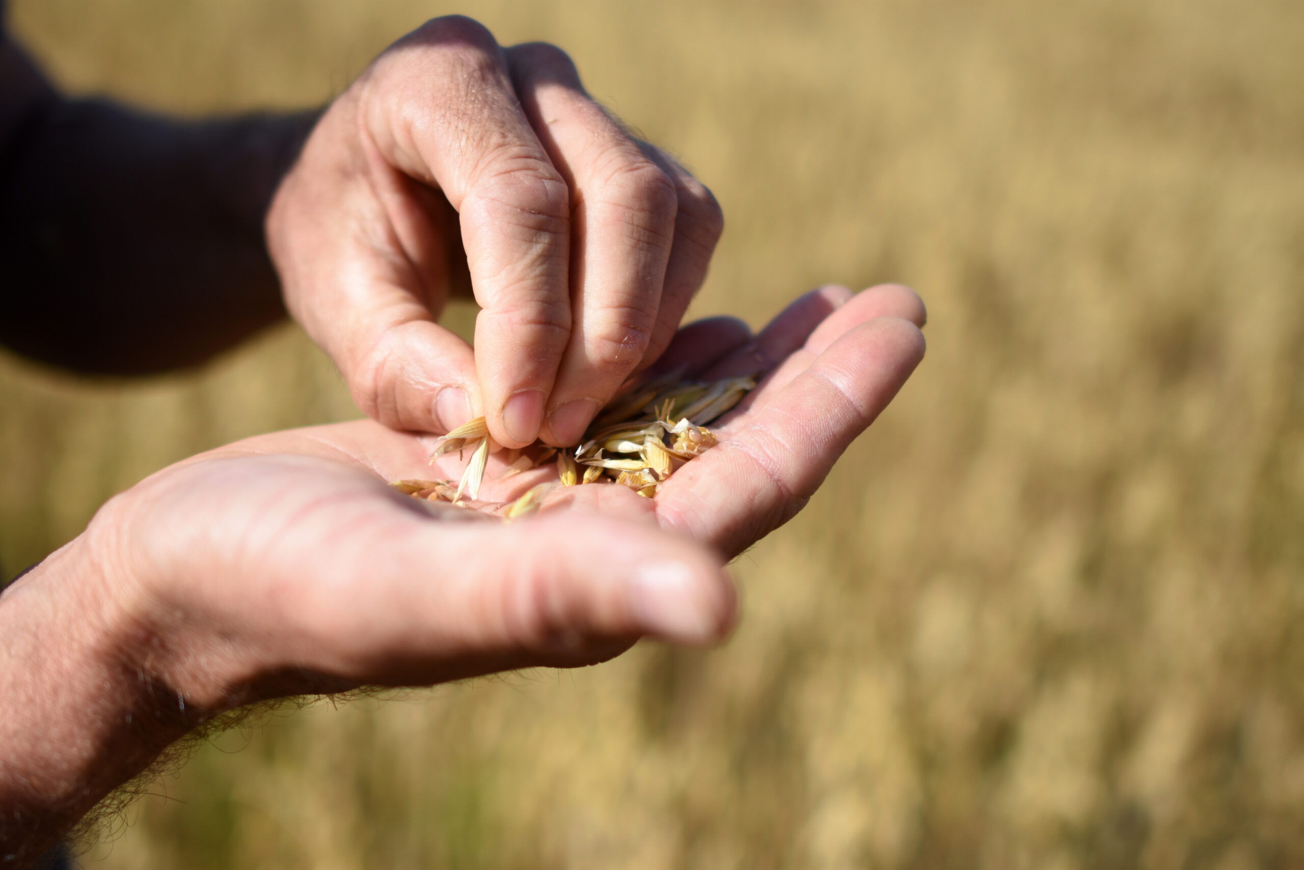
[[[801, 510], [922, 359], [923, 320], [902, 287], [829, 287], [756, 337], [732, 318], [681, 330], [659, 367], [764, 378], [655, 500], [591, 484], [510, 524], [437, 518], [386, 481], [452, 477], [459, 460], [432, 470], [434, 437], [374, 421], [249, 438], [146, 479], [0, 599], [0, 841], [35, 857], [240, 704], [592, 664], [645, 635], [722, 639], [724, 560]], [[556, 476], [501, 468], [486, 503]]]

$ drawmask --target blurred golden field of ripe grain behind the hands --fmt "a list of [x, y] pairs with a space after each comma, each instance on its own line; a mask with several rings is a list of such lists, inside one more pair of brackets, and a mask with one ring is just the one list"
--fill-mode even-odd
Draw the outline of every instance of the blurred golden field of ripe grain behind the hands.
[[[10, 14], [68, 90], [201, 115], [318, 104], [449, 12], [561, 44], [711, 185], [694, 314], [900, 280], [928, 357], [737, 562], [722, 648], [266, 716], [83, 866], [1304, 865], [1304, 5]], [[3, 356], [0, 407], [9, 575], [155, 468], [357, 416], [291, 326], [141, 382]]]

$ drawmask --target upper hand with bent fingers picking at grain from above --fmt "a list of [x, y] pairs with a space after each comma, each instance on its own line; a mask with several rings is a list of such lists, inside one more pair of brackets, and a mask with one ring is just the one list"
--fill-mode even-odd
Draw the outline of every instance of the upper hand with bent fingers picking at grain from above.
[[[558, 48], [430, 21], [327, 110], [267, 218], [291, 313], [359, 406], [447, 432], [575, 443], [665, 350], [722, 218]], [[476, 351], [436, 322], [463, 269]]]

